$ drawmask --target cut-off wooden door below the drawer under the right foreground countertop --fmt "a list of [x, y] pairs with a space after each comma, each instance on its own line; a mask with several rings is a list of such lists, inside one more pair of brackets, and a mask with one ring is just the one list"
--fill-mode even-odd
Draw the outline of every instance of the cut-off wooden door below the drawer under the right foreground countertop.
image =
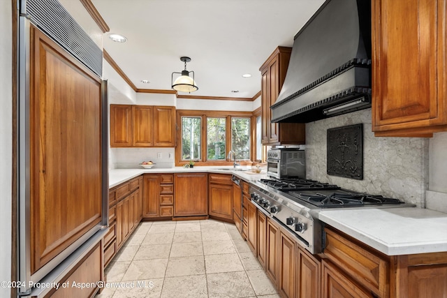
[[372, 298], [376, 297], [366, 292], [357, 283], [351, 281], [337, 267], [329, 262], [323, 264], [323, 298]]

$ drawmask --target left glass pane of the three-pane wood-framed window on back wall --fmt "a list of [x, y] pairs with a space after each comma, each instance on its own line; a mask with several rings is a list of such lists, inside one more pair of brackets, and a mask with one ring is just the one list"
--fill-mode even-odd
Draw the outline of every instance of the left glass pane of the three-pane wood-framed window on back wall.
[[182, 117], [182, 161], [200, 160], [202, 118]]

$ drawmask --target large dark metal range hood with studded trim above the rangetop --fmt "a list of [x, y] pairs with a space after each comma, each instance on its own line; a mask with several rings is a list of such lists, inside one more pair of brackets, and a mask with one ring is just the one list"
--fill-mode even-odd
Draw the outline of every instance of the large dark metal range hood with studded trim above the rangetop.
[[371, 3], [328, 0], [295, 35], [272, 122], [306, 123], [371, 106]]

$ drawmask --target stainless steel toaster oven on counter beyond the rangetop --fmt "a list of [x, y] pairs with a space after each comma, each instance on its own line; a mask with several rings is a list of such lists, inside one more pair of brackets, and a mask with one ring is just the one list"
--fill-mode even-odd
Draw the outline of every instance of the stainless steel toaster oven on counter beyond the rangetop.
[[277, 179], [306, 176], [305, 151], [299, 148], [273, 148], [267, 151], [267, 174]]

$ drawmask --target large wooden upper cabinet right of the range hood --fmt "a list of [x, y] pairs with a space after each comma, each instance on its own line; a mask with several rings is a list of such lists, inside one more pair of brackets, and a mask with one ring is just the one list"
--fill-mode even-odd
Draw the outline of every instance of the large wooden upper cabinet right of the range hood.
[[447, 131], [446, 5], [446, 0], [372, 1], [376, 136]]

